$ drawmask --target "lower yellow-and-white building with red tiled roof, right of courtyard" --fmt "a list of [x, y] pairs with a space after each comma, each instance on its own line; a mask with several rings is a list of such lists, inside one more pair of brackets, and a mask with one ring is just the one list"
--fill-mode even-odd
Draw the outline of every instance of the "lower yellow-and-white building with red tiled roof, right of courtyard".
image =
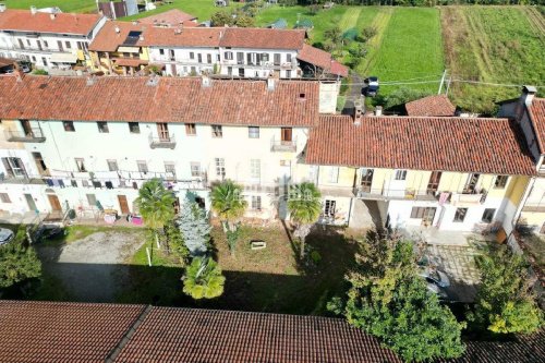
[[334, 223], [371, 214], [391, 228], [509, 233], [535, 174], [519, 131], [507, 119], [322, 116], [305, 162]]

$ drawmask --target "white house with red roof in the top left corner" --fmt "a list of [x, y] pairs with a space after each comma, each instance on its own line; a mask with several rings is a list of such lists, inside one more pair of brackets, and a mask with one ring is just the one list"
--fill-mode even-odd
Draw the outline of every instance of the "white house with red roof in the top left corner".
[[88, 45], [105, 24], [98, 14], [12, 10], [0, 4], [0, 57], [27, 60], [44, 70], [82, 70]]

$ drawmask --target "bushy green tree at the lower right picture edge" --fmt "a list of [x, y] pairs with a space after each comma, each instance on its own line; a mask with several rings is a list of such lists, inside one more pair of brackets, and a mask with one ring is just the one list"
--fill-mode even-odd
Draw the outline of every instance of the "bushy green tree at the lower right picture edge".
[[543, 313], [532, 293], [532, 280], [522, 255], [500, 246], [481, 257], [482, 283], [470, 322], [476, 330], [530, 334], [543, 326]]

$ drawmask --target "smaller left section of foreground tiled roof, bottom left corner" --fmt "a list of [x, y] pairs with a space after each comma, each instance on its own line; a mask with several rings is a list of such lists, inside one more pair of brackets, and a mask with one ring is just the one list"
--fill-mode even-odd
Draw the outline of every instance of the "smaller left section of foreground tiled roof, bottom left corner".
[[0, 301], [0, 362], [105, 362], [144, 308]]

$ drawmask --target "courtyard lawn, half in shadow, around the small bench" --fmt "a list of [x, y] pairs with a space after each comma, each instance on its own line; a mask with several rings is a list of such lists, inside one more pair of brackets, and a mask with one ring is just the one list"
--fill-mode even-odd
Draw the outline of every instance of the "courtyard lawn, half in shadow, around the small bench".
[[[264, 240], [267, 247], [252, 251], [251, 240]], [[220, 228], [213, 230], [214, 253], [227, 278], [223, 295], [193, 301], [182, 292], [183, 268], [172, 257], [155, 252], [154, 267], [147, 266], [145, 247], [132, 261], [131, 283], [118, 302], [198, 306], [288, 314], [325, 314], [326, 303], [343, 291], [343, 276], [353, 262], [354, 244], [336, 230], [308, 237], [318, 263], [301, 265], [284, 229], [242, 227], [234, 256]]]

